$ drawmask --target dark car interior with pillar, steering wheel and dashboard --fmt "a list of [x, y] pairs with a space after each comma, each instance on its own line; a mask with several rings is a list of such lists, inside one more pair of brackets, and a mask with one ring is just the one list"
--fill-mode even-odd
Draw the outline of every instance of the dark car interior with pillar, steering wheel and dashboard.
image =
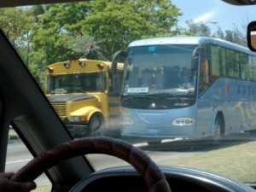
[[[72, 0], [9, 0], [0, 7]], [[237, 6], [253, 0], [224, 0]], [[73, 139], [9, 39], [0, 32], [0, 172], [5, 172], [9, 125], [33, 159], [11, 179], [33, 181], [45, 173], [50, 191], [255, 191], [256, 186], [195, 168], [157, 166], [140, 148], [111, 137]], [[56, 137], [57, 136], [57, 137]], [[108, 154], [129, 165], [95, 171], [83, 154]], [[255, 188], [255, 189], [254, 189]]]

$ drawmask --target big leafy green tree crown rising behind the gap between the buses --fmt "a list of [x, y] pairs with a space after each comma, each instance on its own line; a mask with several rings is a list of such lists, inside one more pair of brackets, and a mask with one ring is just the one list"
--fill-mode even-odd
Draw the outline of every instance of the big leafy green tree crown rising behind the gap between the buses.
[[97, 0], [90, 3], [90, 15], [82, 26], [111, 60], [115, 51], [126, 49], [133, 40], [172, 36], [179, 15], [168, 0]]

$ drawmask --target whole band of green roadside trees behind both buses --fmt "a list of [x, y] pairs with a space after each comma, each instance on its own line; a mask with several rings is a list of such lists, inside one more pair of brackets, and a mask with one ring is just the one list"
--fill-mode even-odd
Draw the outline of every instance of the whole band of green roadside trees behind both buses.
[[168, 0], [97, 0], [3, 8], [0, 27], [42, 88], [50, 63], [81, 57], [111, 61], [116, 50], [141, 38], [207, 36], [246, 45], [243, 26], [211, 32], [206, 23], [188, 20], [184, 28], [177, 26], [182, 15]]

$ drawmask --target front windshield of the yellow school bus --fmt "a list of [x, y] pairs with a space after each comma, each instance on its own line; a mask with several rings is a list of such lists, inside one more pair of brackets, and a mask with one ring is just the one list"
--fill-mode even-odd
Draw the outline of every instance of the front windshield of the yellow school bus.
[[103, 84], [104, 79], [101, 73], [49, 75], [46, 93], [67, 94], [102, 91]]

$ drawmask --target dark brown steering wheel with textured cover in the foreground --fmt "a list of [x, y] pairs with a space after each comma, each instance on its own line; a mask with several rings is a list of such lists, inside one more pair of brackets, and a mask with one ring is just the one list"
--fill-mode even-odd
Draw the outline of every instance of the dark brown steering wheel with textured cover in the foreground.
[[33, 181], [61, 160], [83, 154], [109, 154], [125, 160], [134, 166], [144, 178], [148, 191], [171, 192], [165, 175], [148, 154], [130, 143], [112, 137], [84, 137], [56, 145], [29, 161], [26, 166], [23, 166], [11, 177], [11, 180], [17, 182]]

